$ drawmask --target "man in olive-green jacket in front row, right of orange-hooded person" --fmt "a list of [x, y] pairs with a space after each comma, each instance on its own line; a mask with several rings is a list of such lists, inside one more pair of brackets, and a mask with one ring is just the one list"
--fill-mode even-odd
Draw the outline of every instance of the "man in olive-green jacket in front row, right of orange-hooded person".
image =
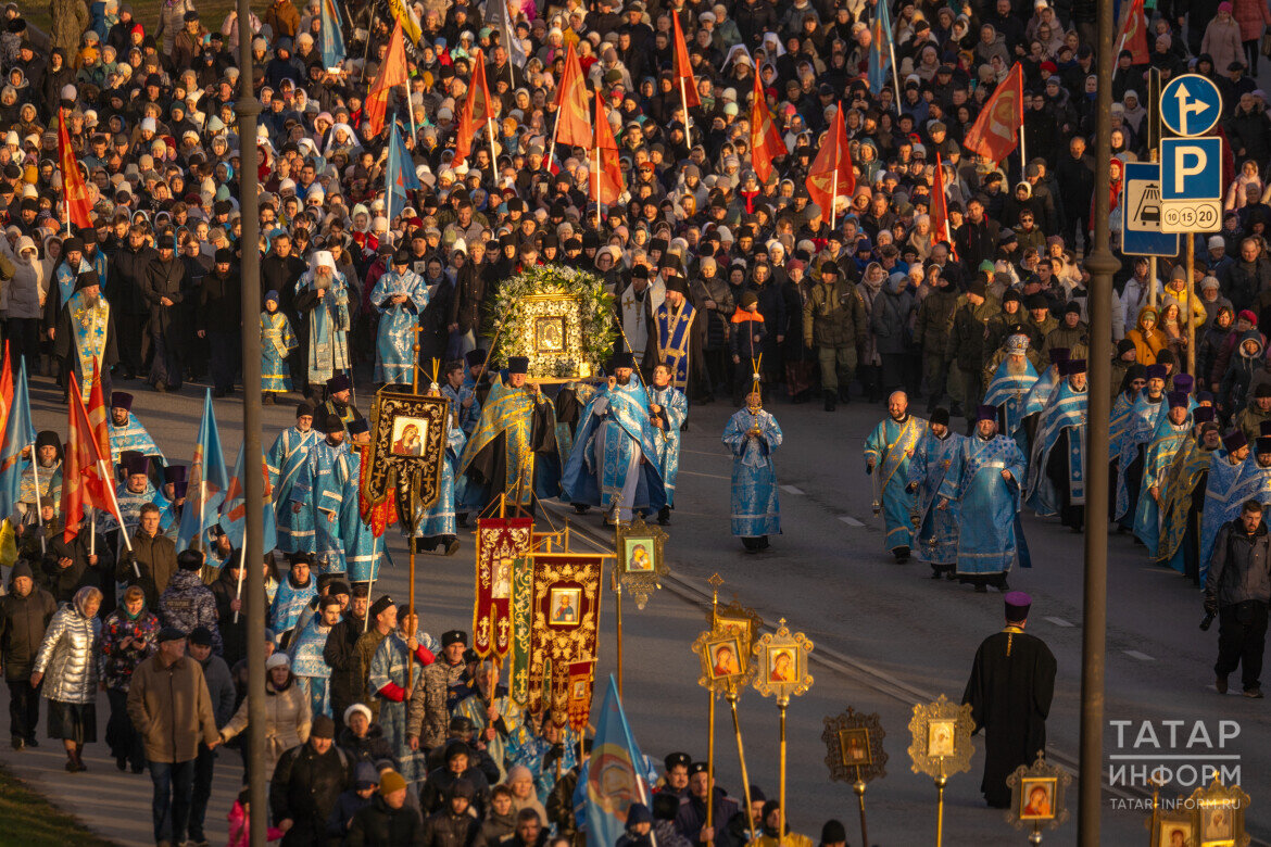
[[864, 343], [866, 305], [860, 293], [844, 282], [839, 265], [821, 263], [821, 281], [803, 306], [803, 345], [816, 349], [821, 364], [821, 394], [826, 411], [835, 401], [848, 401], [848, 386], [855, 377], [857, 347]]

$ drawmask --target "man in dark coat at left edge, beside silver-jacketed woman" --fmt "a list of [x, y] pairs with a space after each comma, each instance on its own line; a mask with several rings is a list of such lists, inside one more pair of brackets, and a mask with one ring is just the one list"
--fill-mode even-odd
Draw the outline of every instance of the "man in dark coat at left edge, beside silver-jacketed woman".
[[56, 611], [53, 596], [36, 585], [31, 565], [19, 560], [9, 575], [9, 593], [0, 597], [0, 663], [9, 684], [9, 735], [15, 750], [39, 747], [39, 687], [31, 684], [31, 665]]

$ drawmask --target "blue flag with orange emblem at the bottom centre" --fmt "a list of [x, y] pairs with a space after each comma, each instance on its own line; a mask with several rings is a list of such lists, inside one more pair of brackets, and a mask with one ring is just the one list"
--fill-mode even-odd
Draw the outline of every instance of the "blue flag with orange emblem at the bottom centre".
[[632, 804], [651, 804], [643, 771], [644, 757], [636, 745], [618, 696], [618, 683], [610, 674], [591, 757], [573, 791], [574, 815], [586, 825], [587, 847], [613, 847], [627, 832], [627, 811]]

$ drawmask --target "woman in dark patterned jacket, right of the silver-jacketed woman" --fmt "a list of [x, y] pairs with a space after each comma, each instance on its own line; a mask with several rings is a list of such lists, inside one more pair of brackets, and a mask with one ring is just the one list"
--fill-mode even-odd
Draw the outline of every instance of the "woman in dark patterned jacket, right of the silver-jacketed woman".
[[145, 744], [128, 717], [128, 684], [137, 665], [155, 651], [158, 635], [159, 618], [146, 610], [139, 585], [123, 592], [123, 603], [102, 625], [102, 684], [111, 702], [105, 743], [121, 771], [131, 764], [133, 773], [141, 773], [146, 766]]

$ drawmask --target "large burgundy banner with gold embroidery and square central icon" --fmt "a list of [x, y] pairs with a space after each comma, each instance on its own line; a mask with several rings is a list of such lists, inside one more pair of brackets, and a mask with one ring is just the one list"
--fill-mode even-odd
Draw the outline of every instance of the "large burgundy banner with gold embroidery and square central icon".
[[539, 712], [550, 705], [543, 702], [543, 688], [552, 684], [557, 669], [596, 655], [604, 556], [539, 552], [530, 563], [534, 589], [526, 709]]

